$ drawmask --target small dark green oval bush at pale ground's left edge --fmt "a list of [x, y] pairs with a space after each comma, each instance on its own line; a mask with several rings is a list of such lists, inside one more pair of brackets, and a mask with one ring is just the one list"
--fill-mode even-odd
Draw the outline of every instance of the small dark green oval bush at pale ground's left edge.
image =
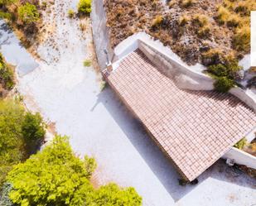
[[29, 154], [35, 152], [36, 147], [40, 146], [46, 134], [45, 127], [40, 113], [26, 113], [22, 122], [22, 136]]

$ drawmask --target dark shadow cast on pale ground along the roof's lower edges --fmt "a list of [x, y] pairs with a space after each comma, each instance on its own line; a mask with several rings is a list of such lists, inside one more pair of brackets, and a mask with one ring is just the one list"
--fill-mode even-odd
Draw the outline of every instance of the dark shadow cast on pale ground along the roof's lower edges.
[[[162, 151], [157, 147], [154, 141], [147, 136], [142, 124], [132, 117], [128, 112], [128, 109], [124, 107], [123, 103], [118, 100], [117, 96], [109, 87], [99, 93], [98, 101], [94, 105], [94, 108], [97, 107], [98, 103], [103, 103], [104, 107], [108, 109], [111, 116], [114, 117], [115, 122], [122, 128], [129, 141], [132, 142], [133, 146], [147, 162], [147, 165], [151, 168], [152, 172], [157, 176], [158, 180], [161, 181], [162, 185], [167, 189], [167, 192], [171, 194], [172, 199], [175, 201], [182, 199], [182, 197], [190, 193], [193, 189], [196, 189], [196, 187], [199, 187], [200, 184], [208, 178], [249, 188], [256, 187], [256, 180], [225, 165], [225, 160], [218, 160], [215, 165], [212, 165], [208, 170], [205, 170], [205, 172], [198, 178], [199, 184], [187, 186], [179, 185], [178, 179], [180, 176], [177, 174], [175, 168], [163, 155]], [[92, 108], [92, 110], [94, 110], [94, 108]], [[120, 113], [123, 115], [119, 115]], [[131, 122], [131, 124], [127, 124], [127, 121]], [[131, 128], [131, 125], [133, 128]], [[142, 138], [134, 137], [133, 132], [131, 131], [141, 131], [143, 134]], [[143, 175], [143, 173], [141, 175]]]

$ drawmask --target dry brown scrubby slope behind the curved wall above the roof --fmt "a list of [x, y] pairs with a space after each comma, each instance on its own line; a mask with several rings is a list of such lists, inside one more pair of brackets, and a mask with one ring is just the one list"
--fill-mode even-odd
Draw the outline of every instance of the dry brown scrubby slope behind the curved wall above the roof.
[[105, 0], [113, 46], [137, 31], [146, 31], [170, 46], [188, 64], [219, 50], [240, 59], [249, 52], [249, 11], [254, 0]]

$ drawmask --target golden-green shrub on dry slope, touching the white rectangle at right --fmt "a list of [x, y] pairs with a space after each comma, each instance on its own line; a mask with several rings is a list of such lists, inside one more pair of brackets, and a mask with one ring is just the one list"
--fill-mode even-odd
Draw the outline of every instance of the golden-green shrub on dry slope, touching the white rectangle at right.
[[244, 50], [249, 52], [250, 50], [250, 27], [243, 26], [237, 28], [233, 36], [233, 46], [235, 50]]

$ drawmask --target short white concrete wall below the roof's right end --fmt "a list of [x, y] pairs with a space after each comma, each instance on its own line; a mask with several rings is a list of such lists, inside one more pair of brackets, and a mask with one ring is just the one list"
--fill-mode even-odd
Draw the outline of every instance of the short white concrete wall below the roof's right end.
[[223, 158], [234, 160], [238, 165], [246, 165], [247, 167], [256, 170], [256, 157], [235, 147], [232, 147], [227, 151]]

